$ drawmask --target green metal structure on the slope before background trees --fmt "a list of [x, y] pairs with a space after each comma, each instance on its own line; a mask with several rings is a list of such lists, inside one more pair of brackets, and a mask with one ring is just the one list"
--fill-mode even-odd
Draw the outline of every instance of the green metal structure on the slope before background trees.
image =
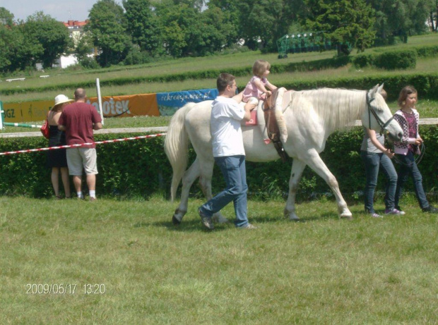
[[[278, 59], [285, 59], [288, 53], [302, 53], [337, 49], [339, 43], [324, 38], [324, 32], [294, 32], [277, 39]], [[350, 44], [348, 44], [350, 47]]]

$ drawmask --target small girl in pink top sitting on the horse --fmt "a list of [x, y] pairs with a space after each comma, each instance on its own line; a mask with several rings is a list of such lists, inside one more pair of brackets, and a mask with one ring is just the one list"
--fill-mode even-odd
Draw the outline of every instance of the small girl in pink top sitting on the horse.
[[[243, 91], [242, 102], [248, 103], [251, 100], [251, 104], [257, 104], [259, 100], [265, 99], [267, 94], [271, 95], [271, 90], [277, 89], [266, 78], [270, 68], [271, 64], [268, 61], [257, 60], [254, 62], [252, 66], [253, 76]], [[251, 97], [254, 97], [257, 101], [254, 99], [254, 102], [252, 102]]]

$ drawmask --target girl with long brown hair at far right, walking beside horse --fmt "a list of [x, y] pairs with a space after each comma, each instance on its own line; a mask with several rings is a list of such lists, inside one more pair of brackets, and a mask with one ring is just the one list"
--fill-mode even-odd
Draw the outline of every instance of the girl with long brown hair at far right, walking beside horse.
[[436, 214], [438, 213], [438, 209], [432, 207], [432, 205], [427, 202], [425, 190], [422, 188], [422, 176], [414, 159], [414, 154], [420, 154], [420, 145], [422, 144], [422, 138], [418, 133], [420, 115], [415, 109], [417, 99], [417, 90], [415, 90], [414, 87], [404, 87], [397, 101], [400, 109], [394, 114], [394, 119], [403, 129], [401, 142], [394, 142], [394, 152], [399, 164], [401, 164], [398, 171], [395, 204], [396, 209], [401, 210], [398, 206], [398, 201], [400, 200], [403, 186], [409, 176], [411, 176], [414, 181], [415, 195], [422, 211]]

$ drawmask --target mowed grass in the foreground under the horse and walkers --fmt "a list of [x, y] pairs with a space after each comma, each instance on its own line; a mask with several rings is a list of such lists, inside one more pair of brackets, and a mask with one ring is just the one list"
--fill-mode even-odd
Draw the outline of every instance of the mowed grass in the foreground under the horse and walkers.
[[[436, 322], [437, 216], [416, 204], [384, 219], [357, 204], [345, 221], [334, 202], [307, 202], [292, 222], [282, 200], [250, 200], [256, 230], [223, 224], [209, 233], [201, 203], [190, 200], [174, 227], [177, 203], [161, 197], [0, 197], [0, 323]], [[232, 205], [223, 213], [232, 219]], [[42, 289], [61, 284], [67, 293]]]

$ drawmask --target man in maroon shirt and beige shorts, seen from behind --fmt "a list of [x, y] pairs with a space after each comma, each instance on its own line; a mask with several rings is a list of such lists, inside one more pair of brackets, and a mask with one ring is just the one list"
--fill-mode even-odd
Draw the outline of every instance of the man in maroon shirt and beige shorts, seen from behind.
[[85, 103], [85, 90], [74, 92], [75, 102], [66, 106], [58, 121], [58, 128], [66, 131], [67, 145], [90, 143], [81, 147], [67, 149], [67, 165], [73, 176], [73, 184], [79, 199], [82, 194], [82, 171], [85, 168], [90, 201], [96, 200], [97, 154], [93, 130], [102, 128], [102, 118], [93, 105]]

